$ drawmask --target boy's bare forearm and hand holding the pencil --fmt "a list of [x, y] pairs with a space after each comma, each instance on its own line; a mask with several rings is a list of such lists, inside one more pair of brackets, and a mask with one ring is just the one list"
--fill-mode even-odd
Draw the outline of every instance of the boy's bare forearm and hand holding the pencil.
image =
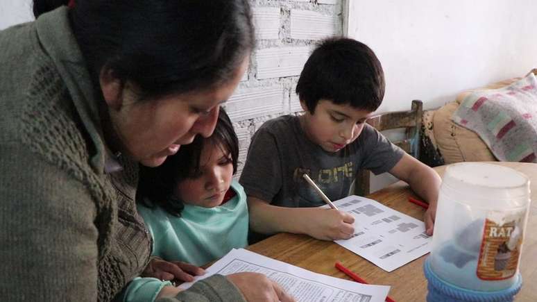
[[306, 234], [319, 240], [348, 239], [355, 218], [327, 208], [285, 208], [248, 196], [250, 228], [258, 233]]

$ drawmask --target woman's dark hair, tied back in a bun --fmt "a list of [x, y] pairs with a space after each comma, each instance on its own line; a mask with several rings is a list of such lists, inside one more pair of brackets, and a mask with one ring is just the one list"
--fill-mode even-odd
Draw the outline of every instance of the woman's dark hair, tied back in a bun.
[[78, 0], [69, 19], [94, 83], [109, 69], [144, 99], [225, 83], [255, 44], [248, 0]]

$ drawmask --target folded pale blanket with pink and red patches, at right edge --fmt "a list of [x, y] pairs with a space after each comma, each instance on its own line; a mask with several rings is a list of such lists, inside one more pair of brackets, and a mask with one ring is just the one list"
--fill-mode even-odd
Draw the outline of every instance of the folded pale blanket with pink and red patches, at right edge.
[[481, 137], [498, 160], [537, 162], [537, 81], [468, 94], [452, 120]]

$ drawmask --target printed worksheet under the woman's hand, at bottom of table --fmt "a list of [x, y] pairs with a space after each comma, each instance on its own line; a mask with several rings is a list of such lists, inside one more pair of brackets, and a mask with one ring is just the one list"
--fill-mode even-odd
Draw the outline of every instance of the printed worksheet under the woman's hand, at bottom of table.
[[[233, 249], [205, 271], [194, 282], [214, 274], [225, 276], [242, 271], [264, 274], [299, 302], [384, 302], [390, 290], [385, 285], [366, 285], [317, 274], [245, 249]], [[192, 284], [183, 283], [180, 287], [187, 289]]]

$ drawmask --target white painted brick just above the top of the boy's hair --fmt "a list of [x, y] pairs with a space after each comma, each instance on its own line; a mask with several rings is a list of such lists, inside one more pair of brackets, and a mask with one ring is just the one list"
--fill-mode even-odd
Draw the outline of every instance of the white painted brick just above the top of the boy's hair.
[[319, 40], [337, 32], [337, 18], [311, 10], [291, 10], [291, 38]]

